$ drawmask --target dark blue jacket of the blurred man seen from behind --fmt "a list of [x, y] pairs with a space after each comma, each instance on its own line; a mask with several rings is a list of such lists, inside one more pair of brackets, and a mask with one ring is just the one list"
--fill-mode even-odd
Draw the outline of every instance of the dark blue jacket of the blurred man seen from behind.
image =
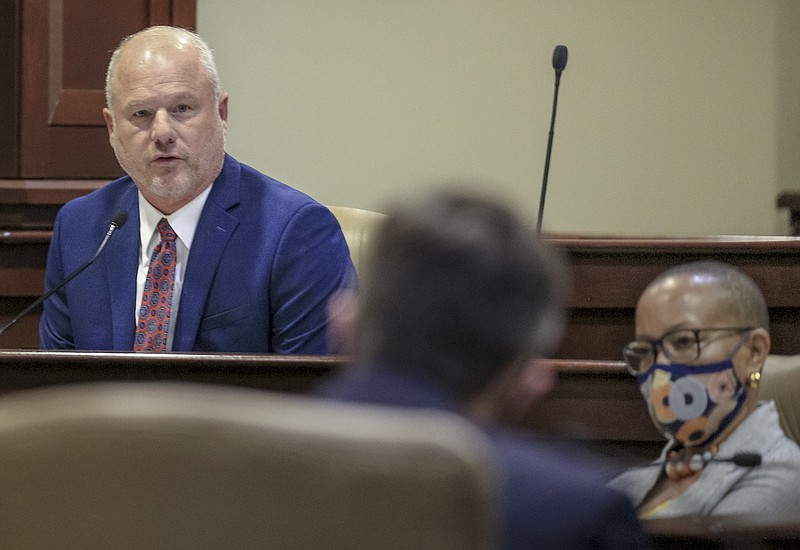
[[[370, 368], [372, 367], [372, 368]], [[316, 393], [328, 398], [458, 412], [447, 391], [385, 365], [344, 371]], [[605, 486], [599, 471], [565, 449], [492, 428], [505, 485], [508, 549], [630, 549], [649, 546], [633, 506]]]

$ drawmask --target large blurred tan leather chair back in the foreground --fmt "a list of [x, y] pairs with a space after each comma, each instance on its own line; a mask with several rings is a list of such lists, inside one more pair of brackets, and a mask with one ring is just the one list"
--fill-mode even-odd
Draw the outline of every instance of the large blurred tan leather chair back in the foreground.
[[2, 548], [490, 548], [494, 475], [446, 413], [182, 383], [0, 398]]

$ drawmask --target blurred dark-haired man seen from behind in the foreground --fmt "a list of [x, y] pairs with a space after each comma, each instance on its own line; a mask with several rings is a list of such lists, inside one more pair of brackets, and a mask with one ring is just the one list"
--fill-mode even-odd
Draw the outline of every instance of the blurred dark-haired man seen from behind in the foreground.
[[444, 409], [485, 428], [505, 482], [504, 548], [640, 548], [630, 502], [564, 449], [499, 427], [503, 396], [551, 387], [535, 361], [562, 323], [564, 267], [531, 227], [494, 202], [443, 194], [390, 213], [359, 297], [331, 306], [332, 334], [354, 365], [327, 398]]

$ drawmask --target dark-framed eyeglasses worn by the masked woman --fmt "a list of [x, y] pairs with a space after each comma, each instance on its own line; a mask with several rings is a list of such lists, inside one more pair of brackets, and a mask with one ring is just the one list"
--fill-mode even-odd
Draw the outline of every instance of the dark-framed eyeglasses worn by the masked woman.
[[[634, 376], [643, 374], [653, 366], [658, 357], [658, 348], [664, 352], [667, 359], [674, 363], [691, 363], [701, 352], [700, 334], [712, 331], [733, 331], [734, 334], [720, 336], [719, 338], [705, 338], [703, 344], [730, 338], [731, 336], [744, 335], [754, 327], [721, 327], [721, 328], [681, 328], [671, 330], [659, 340], [634, 340], [622, 349], [625, 366]], [[739, 345], [744, 342], [744, 338]]]

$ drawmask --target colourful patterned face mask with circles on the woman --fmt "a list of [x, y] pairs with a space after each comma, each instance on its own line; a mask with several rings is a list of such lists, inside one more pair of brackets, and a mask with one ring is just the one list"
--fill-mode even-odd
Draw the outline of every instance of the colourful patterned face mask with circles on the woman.
[[731, 357], [706, 365], [655, 363], [636, 379], [653, 423], [686, 447], [713, 442], [747, 396]]

